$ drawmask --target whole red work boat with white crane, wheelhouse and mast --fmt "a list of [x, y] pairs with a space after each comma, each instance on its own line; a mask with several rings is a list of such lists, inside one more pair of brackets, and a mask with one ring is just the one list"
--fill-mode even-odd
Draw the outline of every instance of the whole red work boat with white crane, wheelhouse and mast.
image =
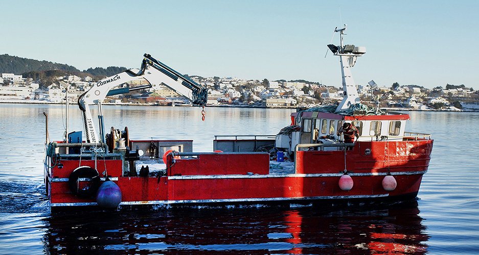
[[[99, 81], [78, 101], [85, 140], [82, 132], [72, 132], [63, 141], [45, 143], [44, 181], [52, 211], [417, 197], [433, 140], [406, 131], [409, 115], [361, 103], [350, 69], [366, 49], [344, 45], [345, 30], [346, 25], [336, 28], [340, 44], [328, 45], [340, 60], [345, 96], [339, 105], [293, 112], [277, 135], [216, 136], [214, 152], [193, 152], [192, 140], [133, 140], [127, 127], [105, 132], [102, 100], [145, 88], [118, 88], [127, 81], [166, 85], [204, 107], [207, 90], [184, 75], [145, 54], [141, 69]], [[100, 135], [89, 105], [98, 105]]]

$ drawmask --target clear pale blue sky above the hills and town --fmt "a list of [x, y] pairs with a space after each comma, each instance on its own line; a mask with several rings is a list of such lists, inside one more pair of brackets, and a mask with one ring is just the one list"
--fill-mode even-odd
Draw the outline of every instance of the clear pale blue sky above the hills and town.
[[[324, 58], [335, 27], [366, 46], [356, 84], [479, 89], [479, 1], [1, 1], [0, 54], [139, 68], [144, 53], [180, 73], [304, 79], [339, 87]], [[339, 43], [334, 36], [333, 44]]]

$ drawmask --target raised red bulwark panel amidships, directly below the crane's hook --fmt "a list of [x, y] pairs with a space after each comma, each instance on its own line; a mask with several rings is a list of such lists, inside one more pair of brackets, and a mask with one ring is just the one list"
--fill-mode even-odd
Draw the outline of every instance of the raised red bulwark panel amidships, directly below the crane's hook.
[[269, 154], [201, 154], [197, 159], [176, 159], [169, 175], [268, 174]]

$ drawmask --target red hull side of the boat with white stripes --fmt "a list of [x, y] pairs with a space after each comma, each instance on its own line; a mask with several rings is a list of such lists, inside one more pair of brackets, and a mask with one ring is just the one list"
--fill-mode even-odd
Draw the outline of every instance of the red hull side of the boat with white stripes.
[[[366, 148], [370, 155], [364, 154]], [[170, 154], [167, 176], [162, 177], [124, 177], [121, 160], [99, 160], [97, 169], [104, 177], [106, 166], [120, 187], [121, 206], [393, 198], [417, 194], [431, 149], [432, 140], [418, 140], [359, 142], [346, 156], [345, 151], [298, 151], [292, 174], [269, 174], [269, 155], [253, 152], [206, 153], [188, 159], [173, 159]], [[50, 205], [97, 206], [95, 197], [79, 198], [67, 183], [79, 160], [61, 162], [61, 169], [56, 166], [48, 173]], [[83, 160], [81, 165], [94, 167], [95, 162]], [[345, 169], [354, 182], [349, 191], [338, 186]], [[381, 184], [389, 172], [397, 181], [393, 191]]]

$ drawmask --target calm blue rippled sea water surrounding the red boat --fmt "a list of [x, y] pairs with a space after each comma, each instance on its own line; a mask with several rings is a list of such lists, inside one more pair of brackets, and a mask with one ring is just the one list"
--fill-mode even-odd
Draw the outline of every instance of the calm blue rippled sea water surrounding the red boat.
[[[479, 254], [479, 113], [409, 112], [435, 139], [419, 199], [375, 206], [133, 210], [51, 214], [43, 185], [45, 118], [64, 106], [0, 104], [0, 254]], [[291, 110], [104, 106], [132, 139], [275, 135]], [[94, 116], [96, 113], [94, 113]], [[82, 129], [70, 108], [69, 132]]]

